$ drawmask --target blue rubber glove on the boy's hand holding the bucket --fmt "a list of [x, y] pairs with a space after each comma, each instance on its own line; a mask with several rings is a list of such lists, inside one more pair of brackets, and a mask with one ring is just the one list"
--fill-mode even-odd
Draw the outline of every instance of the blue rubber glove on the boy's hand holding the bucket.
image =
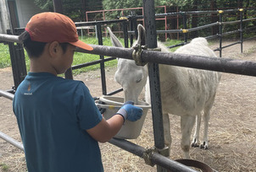
[[120, 116], [123, 116], [124, 121], [137, 121], [141, 119], [143, 110], [140, 107], [134, 105], [132, 101], [126, 101], [125, 104], [116, 112]]

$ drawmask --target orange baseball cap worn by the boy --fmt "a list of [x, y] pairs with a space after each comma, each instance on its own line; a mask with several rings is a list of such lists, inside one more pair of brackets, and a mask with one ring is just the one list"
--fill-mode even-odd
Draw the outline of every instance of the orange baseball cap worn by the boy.
[[37, 13], [26, 24], [25, 30], [31, 35], [31, 40], [34, 41], [68, 42], [87, 51], [93, 50], [92, 46], [78, 40], [74, 22], [61, 13]]

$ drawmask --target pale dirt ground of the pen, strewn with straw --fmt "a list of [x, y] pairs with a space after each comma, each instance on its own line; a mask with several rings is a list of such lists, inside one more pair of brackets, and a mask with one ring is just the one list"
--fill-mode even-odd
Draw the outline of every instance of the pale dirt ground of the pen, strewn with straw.
[[[225, 42], [224, 45], [228, 44]], [[214, 49], [218, 43], [211, 44]], [[242, 60], [256, 60], [256, 41], [244, 42], [243, 53], [240, 46], [231, 46], [223, 51], [223, 57]], [[219, 53], [216, 53], [217, 56]], [[106, 69], [108, 93], [120, 86], [114, 82], [115, 67]], [[101, 96], [100, 72], [93, 71], [75, 76], [82, 80], [91, 90], [92, 96]], [[0, 69], [0, 89], [11, 89], [14, 81], [11, 68]], [[223, 73], [220, 86], [211, 110], [209, 122], [209, 149], [191, 148], [191, 157], [209, 164], [217, 171], [256, 171], [256, 78]], [[122, 93], [115, 96], [122, 96]], [[143, 100], [143, 94], [141, 95]], [[181, 128], [180, 118], [170, 116], [170, 132], [172, 145], [170, 159], [181, 159]], [[0, 97], [0, 132], [8, 134], [20, 142], [18, 126], [12, 112], [12, 102]], [[202, 135], [202, 134], [201, 134]], [[153, 147], [153, 126], [151, 111], [142, 128], [141, 135], [130, 140], [144, 148]], [[113, 146], [101, 143], [103, 165], [106, 172], [149, 172], [156, 171], [144, 163], [144, 160], [131, 153]], [[24, 153], [0, 138], [0, 171], [25, 171]]]

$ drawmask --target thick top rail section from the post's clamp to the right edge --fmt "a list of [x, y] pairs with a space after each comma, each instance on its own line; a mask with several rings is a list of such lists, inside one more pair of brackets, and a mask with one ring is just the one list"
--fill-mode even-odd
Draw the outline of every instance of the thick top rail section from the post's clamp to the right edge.
[[256, 76], [256, 62], [242, 61], [231, 58], [211, 58], [206, 56], [182, 55], [169, 52], [157, 53], [145, 51], [142, 62], [159, 62], [180, 67], [192, 67], [223, 73], [236, 73]]

